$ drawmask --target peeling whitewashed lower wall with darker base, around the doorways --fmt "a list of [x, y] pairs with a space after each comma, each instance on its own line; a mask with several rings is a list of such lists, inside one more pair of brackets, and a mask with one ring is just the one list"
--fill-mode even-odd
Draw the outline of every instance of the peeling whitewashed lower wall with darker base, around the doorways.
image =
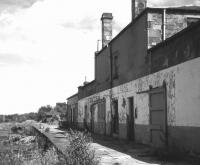
[[91, 105], [104, 98], [107, 134], [110, 134], [111, 100], [118, 99], [119, 137], [127, 138], [127, 102], [128, 97], [133, 96], [134, 106], [138, 111], [138, 117], [135, 119], [135, 139], [137, 142], [149, 144], [149, 94], [137, 92], [148, 90], [150, 85], [153, 88], [160, 87], [163, 82], [166, 83], [167, 89], [169, 147], [200, 152], [200, 58], [79, 100], [79, 122], [83, 122], [85, 104]]

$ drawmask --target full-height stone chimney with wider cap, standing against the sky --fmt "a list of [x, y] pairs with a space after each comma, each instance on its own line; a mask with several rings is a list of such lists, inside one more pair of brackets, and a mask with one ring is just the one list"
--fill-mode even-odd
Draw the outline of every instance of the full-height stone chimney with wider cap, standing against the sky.
[[112, 13], [102, 14], [102, 48], [112, 40], [112, 19]]

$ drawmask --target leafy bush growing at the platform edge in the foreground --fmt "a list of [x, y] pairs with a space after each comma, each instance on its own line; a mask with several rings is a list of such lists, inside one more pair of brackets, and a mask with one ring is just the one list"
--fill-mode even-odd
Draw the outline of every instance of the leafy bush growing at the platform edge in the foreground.
[[92, 138], [89, 134], [70, 130], [67, 135], [69, 146], [66, 148], [66, 164], [97, 165], [95, 152], [90, 148]]

